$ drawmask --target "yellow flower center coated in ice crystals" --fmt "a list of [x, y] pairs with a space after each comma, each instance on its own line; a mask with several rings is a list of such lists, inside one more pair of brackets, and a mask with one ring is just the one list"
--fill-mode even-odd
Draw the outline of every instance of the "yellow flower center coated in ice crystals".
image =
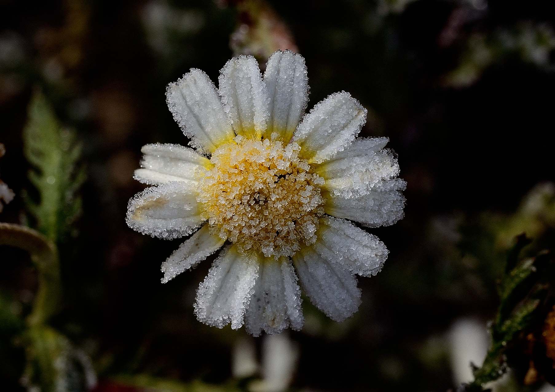
[[218, 236], [239, 250], [266, 257], [292, 256], [316, 241], [324, 215], [324, 179], [299, 158], [300, 146], [269, 139], [235, 142], [216, 149], [199, 181], [202, 213]]

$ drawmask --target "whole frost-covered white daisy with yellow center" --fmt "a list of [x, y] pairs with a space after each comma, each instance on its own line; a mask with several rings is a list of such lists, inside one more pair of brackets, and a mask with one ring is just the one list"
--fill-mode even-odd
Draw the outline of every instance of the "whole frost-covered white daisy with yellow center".
[[[159, 238], [188, 236], [162, 264], [168, 282], [228, 242], [196, 292], [208, 325], [278, 333], [304, 323], [311, 301], [342, 321], [359, 307], [355, 274], [373, 276], [387, 249], [350, 220], [391, 225], [403, 215], [399, 167], [387, 138], [355, 139], [366, 109], [349, 93], [304, 115], [305, 60], [233, 58], [219, 89], [199, 69], [168, 85], [175, 121], [196, 151], [148, 144], [135, 179], [155, 185], [129, 201], [127, 223]], [[208, 157], [209, 156], [209, 157]], [[297, 279], [298, 276], [298, 279]]]

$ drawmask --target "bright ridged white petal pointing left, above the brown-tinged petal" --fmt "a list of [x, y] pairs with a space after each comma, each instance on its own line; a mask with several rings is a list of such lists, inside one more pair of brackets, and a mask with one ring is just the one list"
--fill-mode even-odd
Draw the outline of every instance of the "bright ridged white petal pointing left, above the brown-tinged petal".
[[141, 149], [141, 169], [135, 170], [134, 179], [148, 185], [170, 181], [196, 182], [200, 167], [211, 167], [210, 161], [193, 149], [179, 144], [147, 144]]

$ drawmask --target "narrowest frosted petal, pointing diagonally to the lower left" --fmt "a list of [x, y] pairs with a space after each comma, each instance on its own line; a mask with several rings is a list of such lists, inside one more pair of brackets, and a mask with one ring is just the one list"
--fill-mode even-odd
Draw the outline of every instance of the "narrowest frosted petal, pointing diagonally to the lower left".
[[210, 233], [209, 225], [204, 225], [162, 263], [162, 283], [169, 282], [186, 269], [196, 267], [196, 264], [219, 250], [224, 242], [225, 240]]

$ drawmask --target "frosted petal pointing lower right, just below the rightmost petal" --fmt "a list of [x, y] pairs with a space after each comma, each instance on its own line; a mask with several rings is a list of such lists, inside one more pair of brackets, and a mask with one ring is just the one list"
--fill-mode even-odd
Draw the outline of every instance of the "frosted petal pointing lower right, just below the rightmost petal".
[[384, 266], [388, 253], [384, 243], [349, 221], [322, 217], [317, 236], [313, 245], [316, 252], [352, 273], [374, 276]]

